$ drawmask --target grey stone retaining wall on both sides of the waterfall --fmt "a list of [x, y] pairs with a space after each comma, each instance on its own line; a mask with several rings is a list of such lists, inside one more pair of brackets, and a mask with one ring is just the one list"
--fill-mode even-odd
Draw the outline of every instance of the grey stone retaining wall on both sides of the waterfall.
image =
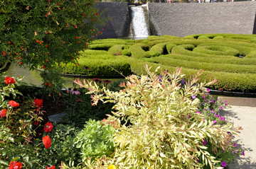
[[[127, 37], [129, 9], [127, 3], [99, 2], [110, 16], [98, 38]], [[219, 3], [149, 3], [151, 35], [186, 36], [201, 33], [256, 34], [256, 1]], [[99, 28], [100, 30], [102, 28]]]

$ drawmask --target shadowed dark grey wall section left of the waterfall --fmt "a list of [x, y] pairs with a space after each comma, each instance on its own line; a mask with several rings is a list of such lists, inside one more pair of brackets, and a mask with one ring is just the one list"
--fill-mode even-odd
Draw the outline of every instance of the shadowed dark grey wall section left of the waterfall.
[[98, 2], [97, 5], [100, 11], [105, 8], [105, 17], [110, 16], [112, 21], [109, 21], [102, 30], [101, 27], [97, 27], [102, 31], [102, 35], [98, 35], [98, 39], [102, 38], [114, 38], [114, 37], [127, 37], [129, 27], [129, 10], [128, 4], [123, 2]]

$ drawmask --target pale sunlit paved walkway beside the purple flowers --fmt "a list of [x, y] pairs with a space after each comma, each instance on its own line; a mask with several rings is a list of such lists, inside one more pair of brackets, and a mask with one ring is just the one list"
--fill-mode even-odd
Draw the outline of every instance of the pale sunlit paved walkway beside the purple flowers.
[[234, 126], [242, 126], [240, 137], [236, 137], [238, 148], [245, 151], [245, 156], [240, 156], [229, 169], [256, 169], [256, 105], [255, 107], [231, 105], [231, 109], [220, 112], [220, 116], [234, 122]]

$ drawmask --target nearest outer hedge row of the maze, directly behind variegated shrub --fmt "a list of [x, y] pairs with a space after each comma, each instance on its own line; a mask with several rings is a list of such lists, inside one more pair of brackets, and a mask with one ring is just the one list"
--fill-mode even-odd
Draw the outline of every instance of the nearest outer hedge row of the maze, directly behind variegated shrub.
[[[152, 63], [152, 62], [146, 62], [144, 60], [141, 60], [141, 62], [138, 62], [137, 59], [134, 59], [132, 57], [125, 57], [121, 56], [122, 58], [126, 59], [127, 62], [131, 65], [132, 73], [137, 75], [146, 74], [144, 65], [148, 64], [149, 66], [152, 66], [152, 70], [156, 69], [159, 64]], [[156, 59], [157, 57], [154, 57]], [[151, 58], [150, 58], [151, 59]], [[174, 66], [167, 66], [167, 65], [161, 65], [161, 69], [163, 70], [169, 70], [174, 71], [176, 67]], [[188, 69], [183, 68], [182, 69], [183, 74], [186, 74], [185, 78], [188, 79], [189, 76], [192, 76], [193, 74], [197, 74], [198, 70], [195, 69]], [[242, 92], [255, 92], [256, 91], [256, 74], [236, 74], [236, 73], [229, 73], [229, 72], [214, 72], [214, 71], [202, 71], [201, 72], [201, 79], [199, 82], [209, 82], [210, 79], [213, 80], [216, 78], [218, 80], [218, 83], [214, 86], [210, 86], [210, 88], [220, 90], [220, 91], [242, 91]]]

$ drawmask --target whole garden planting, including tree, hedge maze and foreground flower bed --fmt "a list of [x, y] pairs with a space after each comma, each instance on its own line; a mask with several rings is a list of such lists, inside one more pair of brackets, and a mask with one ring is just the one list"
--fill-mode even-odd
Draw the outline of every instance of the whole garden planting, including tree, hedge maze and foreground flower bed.
[[[109, 19], [96, 3], [0, 4], [0, 168], [220, 169], [245, 156], [210, 90], [255, 93], [256, 36], [94, 40]], [[43, 70], [42, 88], [7, 76], [10, 64]], [[124, 78], [65, 88], [63, 74]]]

